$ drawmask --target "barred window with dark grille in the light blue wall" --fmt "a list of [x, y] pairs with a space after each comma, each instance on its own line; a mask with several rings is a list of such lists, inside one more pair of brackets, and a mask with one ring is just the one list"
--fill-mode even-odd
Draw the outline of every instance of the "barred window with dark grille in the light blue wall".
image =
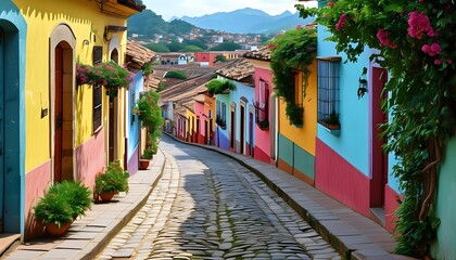
[[318, 60], [318, 122], [327, 128], [339, 129], [339, 68], [340, 57]]

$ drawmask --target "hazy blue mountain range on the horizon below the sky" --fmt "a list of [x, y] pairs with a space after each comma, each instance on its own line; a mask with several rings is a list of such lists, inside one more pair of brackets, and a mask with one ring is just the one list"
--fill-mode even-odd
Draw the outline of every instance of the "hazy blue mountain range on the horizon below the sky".
[[269, 15], [261, 10], [245, 8], [232, 12], [206, 14], [200, 17], [183, 16], [186, 21], [204, 29], [221, 30], [231, 34], [277, 34], [291, 29], [297, 24], [306, 24], [299, 13], [286, 11], [279, 15]]

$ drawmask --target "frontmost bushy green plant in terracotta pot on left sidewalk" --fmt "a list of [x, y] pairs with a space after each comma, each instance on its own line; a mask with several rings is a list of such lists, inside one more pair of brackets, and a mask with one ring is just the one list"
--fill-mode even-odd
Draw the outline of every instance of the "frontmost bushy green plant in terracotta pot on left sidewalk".
[[65, 194], [47, 192], [35, 206], [34, 212], [53, 236], [64, 235], [73, 222], [74, 211]]

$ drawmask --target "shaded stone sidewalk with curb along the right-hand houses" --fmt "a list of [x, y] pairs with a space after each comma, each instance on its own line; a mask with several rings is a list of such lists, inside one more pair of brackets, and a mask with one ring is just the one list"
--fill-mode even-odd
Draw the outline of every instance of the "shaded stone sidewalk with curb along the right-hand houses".
[[255, 172], [346, 259], [413, 259], [392, 253], [396, 242], [381, 225], [275, 166], [210, 145], [187, 144], [229, 156]]

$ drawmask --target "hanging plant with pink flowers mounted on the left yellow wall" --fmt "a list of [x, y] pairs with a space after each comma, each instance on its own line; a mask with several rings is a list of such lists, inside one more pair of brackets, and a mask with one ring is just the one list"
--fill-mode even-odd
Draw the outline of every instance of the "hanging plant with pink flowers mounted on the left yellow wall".
[[77, 64], [76, 84], [104, 86], [110, 100], [118, 94], [119, 88], [128, 89], [135, 74], [113, 61], [100, 63], [96, 66]]

